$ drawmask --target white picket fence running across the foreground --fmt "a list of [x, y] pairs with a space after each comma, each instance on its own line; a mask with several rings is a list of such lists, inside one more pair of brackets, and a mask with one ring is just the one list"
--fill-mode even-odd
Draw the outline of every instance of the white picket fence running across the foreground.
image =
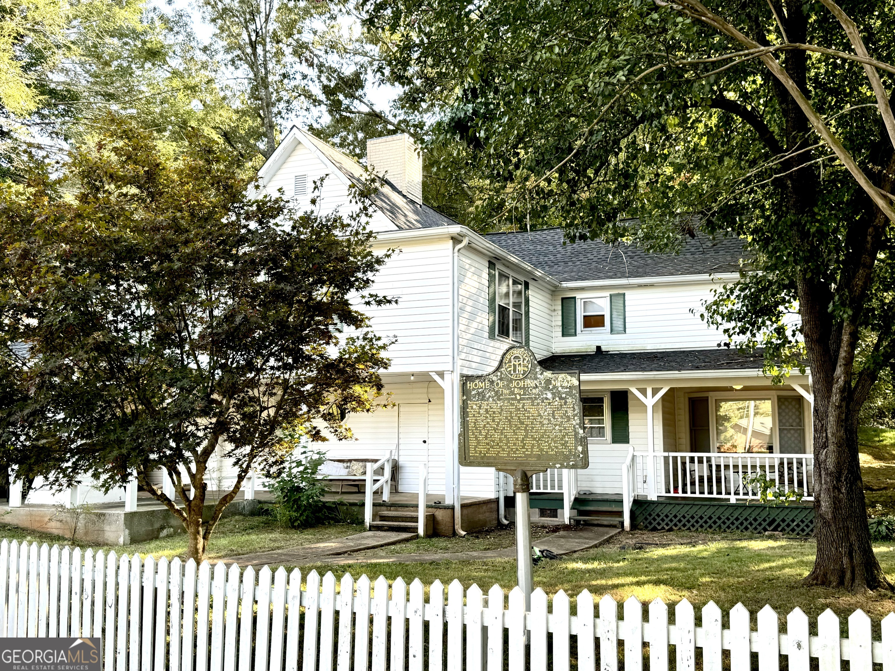
[[332, 573], [321, 580], [314, 571], [256, 573], [6, 540], [0, 576], [0, 635], [102, 636], [106, 671], [618, 671], [619, 660], [624, 671], [643, 671], [644, 658], [649, 671], [672, 662], [677, 671], [779, 671], [782, 655], [789, 671], [809, 671], [812, 657], [819, 671], [840, 671], [843, 659], [852, 671], [873, 671], [874, 662], [895, 671], [892, 613], [882, 620], [882, 641], [872, 640], [861, 610], [848, 617], [848, 638], [831, 610], [817, 619], [816, 636], [799, 608], [781, 633], [769, 606], [753, 632], [742, 604], [730, 610], [729, 629], [713, 602], [702, 609], [702, 626], [686, 599], [674, 607], [674, 624], [660, 599], [644, 622], [634, 597], [619, 620], [614, 599], [595, 608], [586, 590], [574, 599], [574, 616], [562, 591], [550, 607], [535, 590], [526, 612], [521, 590], [507, 599], [499, 585], [485, 595], [476, 585], [464, 590], [454, 581], [445, 590], [436, 581], [426, 600], [419, 580], [408, 589], [401, 578], [371, 585], [345, 574], [337, 590]]

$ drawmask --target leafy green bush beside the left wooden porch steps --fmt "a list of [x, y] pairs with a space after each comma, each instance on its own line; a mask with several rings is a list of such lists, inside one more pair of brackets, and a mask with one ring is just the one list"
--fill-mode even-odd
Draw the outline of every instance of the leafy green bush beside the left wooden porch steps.
[[317, 480], [317, 471], [324, 461], [326, 454], [316, 450], [286, 459], [279, 477], [271, 486], [277, 497], [277, 520], [284, 526], [302, 529], [327, 517], [327, 508], [323, 504], [327, 486]]

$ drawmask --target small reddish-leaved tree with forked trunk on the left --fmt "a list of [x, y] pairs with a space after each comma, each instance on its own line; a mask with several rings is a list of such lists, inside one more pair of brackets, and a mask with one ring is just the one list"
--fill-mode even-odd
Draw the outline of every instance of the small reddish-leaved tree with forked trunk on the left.
[[[106, 127], [62, 175], [0, 191], [0, 446], [56, 488], [136, 473], [200, 559], [247, 473], [287, 456], [284, 426], [345, 436], [340, 414], [375, 408], [388, 360], [355, 306], [388, 302], [368, 291], [384, 257], [362, 192], [350, 213], [296, 212], [251, 195], [219, 140]], [[218, 455], [235, 478], [203, 522]]]

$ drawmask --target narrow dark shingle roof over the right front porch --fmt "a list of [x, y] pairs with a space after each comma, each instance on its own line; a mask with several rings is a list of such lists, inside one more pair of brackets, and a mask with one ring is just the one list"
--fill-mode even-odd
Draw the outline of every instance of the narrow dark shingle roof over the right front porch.
[[760, 350], [749, 354], [720, 347], [714, 350], [553, 354], [538, 362], [548, 370], [577, 370], [580, 373], [657, 373], [678, 370], [754, 370], [763, 367], [764, 359]]

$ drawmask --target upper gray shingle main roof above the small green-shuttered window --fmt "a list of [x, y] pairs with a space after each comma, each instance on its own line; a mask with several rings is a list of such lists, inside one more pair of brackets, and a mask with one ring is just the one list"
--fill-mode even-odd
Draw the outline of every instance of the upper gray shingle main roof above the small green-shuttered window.
[[744, 256], [738, 238], [712, 239], [703, 234], [686, 238], [679, 254], [647, 254], [626, 244], [613, 248], [590, 240], [564, 244], [561, 228], [493, 233], [487, 238], [559, 282], [731, 273], [737, 272]]

